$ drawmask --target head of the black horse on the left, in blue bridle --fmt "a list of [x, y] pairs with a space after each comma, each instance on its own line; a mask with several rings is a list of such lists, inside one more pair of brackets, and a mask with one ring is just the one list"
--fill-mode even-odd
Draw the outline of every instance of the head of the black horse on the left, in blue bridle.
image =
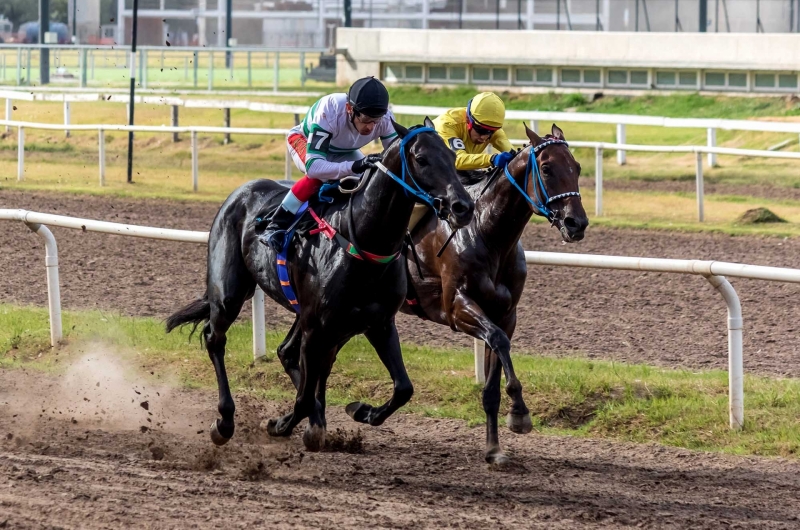
[[[401, 141], [397, 148], [384, 154], [387, 167], [394, 166], [398, 175], [428, 194], [439, 217], [447, 219], [453, 228], [461, 228], [472, 221], [475, 203], [461, 184], [456, 173], [455, 154], [434, 131], [415, 132], [418, 127], [406, 129], [392, 121]], [[423, 127], [433, 129], [433, 122], [425, 118]], [[402, 173], [401, 156], [405, 158], [408, 179]], [[411, 180], [413, 179], [413, 182]]]

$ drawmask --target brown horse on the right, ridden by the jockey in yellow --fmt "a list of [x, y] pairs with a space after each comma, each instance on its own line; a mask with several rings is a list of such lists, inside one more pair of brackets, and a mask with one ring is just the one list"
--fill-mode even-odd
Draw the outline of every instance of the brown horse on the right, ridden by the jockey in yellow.
[[[567, 148], [564, 133], [555, 125], [552, 135], [545, 138], [527, 127], [525, 132], [531, 144], [509, 163], [507, 173], [495, 170], [468, 187], [475, 198], [475, 217], [456, 232], [441, 257], [437, 253], [452, 233], [447, 224], [429, 217], [415, 229], [413, 239], [424, 279], [409, 260], [417, 310], [486, 344], [483, 409], [490, 463], [508, 461], [497, 432], [501, 368], [512, 400], [509, 428], [517, 433], [532, 428], [510, 357], [517, 304], [527, 275], [520, 236], [533, 213], [547, 217], [566, 242], [583, 239], [589, 224], [578, 193], [581, 168]], [[470, 176], [464, 180], [471, 178], [475, 180]], [[416, 314], [412, 309], [406, 303], [401, 310]]]

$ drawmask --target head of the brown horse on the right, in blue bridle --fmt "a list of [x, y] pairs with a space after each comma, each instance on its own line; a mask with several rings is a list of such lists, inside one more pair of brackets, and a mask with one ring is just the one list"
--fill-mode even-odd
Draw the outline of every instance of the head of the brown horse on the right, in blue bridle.
[[[528, 170], [528, 159], [531, 155], [534, 156], [534, 160], [531, 160], [533, 178], [528, 179], [528, 189], [525, 191], [552, 212], [550, 221], [558, 227], [564, 241], [580, 241], [589, 226], [589, 219], [578, 193], [581, 165], [572, 156], [564, 140], [564, 132], [556, 124], [553, 124], [551, 134], [544, 138], [530, 130], [527, 125], [525, 133], [531, 141], [530, 148], [525, 150], [527, 156], [518, 156], [512, 160], [508, 165], [509, 171], [518, 181], [522, 180], [519, 176], [525, 174]], [[538, 165], [544, 190], [539, 190], [534, 163]]]

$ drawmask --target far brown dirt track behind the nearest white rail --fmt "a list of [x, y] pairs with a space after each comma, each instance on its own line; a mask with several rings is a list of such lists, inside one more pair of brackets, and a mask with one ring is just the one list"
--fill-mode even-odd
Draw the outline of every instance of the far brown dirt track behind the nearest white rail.
[[[0, 207], [132, 224], [208, 230], [217, 205], [0, 190]], [[166, 317], [205, 287], [205, 248], [189, 243], [54, 228], [66, 309], [100, 307]], [[800, 240], [730, 237], [590, 226], [586, 239], [562, 245], [555, 230], [530, 225], [530, 250], [622, 256], [700, 258], [800, 267]], [[44, 250], [21, 223], [0, 223], [0, 301], [44, 306]], [[800, 376], [800, 286], [732, 279], [744, 312], [748, 373]], [[288, 328], [291, 315], [267, 308], [268, 324]], [[519, 307], [517, 352], [580, 355], [664, 366], [725, 368], [726, 310], [702, 278], [677, 274], [530, 267]], [[403, 341], [470, 347], [471, 339], [398, 316]]]

